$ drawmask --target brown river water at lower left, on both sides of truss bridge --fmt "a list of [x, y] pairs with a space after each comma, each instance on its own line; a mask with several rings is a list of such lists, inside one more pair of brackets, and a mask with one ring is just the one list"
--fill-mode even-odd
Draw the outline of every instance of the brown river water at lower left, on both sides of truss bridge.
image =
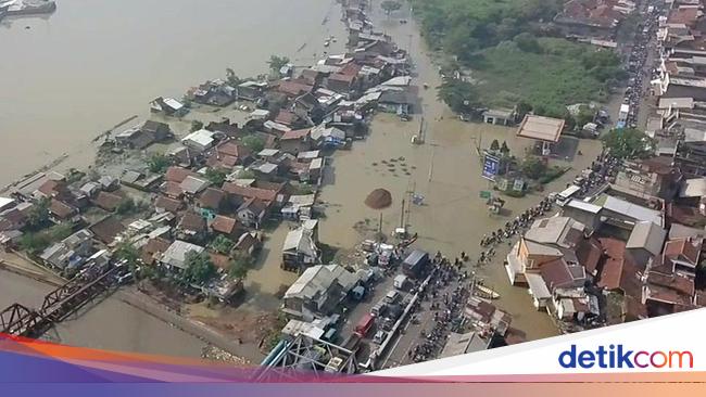
[[[2, 308], [15, 302], [38, 307], [51, 290], [47, 284], [0, 270]], [[71, 346], [194, 358], [201, 356], [203, 347], [198, 338], [116, 298], [70, 317], [43, 338]]]

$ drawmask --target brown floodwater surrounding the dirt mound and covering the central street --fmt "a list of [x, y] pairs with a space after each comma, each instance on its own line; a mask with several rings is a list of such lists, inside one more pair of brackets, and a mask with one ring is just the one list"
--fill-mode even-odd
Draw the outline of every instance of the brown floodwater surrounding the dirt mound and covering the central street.
[[[414, 82], [437, 87], [440, 84], [437, 69], [425, 54], [414, 25], [386, 21], [380, 15], [377, 18], [398, 43], [409, 46], [417, 74]], [[362, 229], [366, 229], [368, 235], [375, 231], [380, 213], [367, 208], [363, 201], [377, 188], [390, 190], [394, 198], [393, 206], [382, 212], [383, 232], [391, 233], [401, 225], [402, 198], [408, 191], [415, 191], [425, 196], [425, 203], [413, 205], [405, 222], [412, 232], [419, 233], [417, 245], [431, 252], [442, 251], [452, 258], [465, 251], [475, 261], [480, 253], [478, 242], [484, 233], [502, 227], [515, 214], [542, 198], [540, 195], [521, 200], [508, 197], [506, 208], [509, 215], [489, 216], [484, 201], [479, 198], [480, 191], [488, 190], [489, 184], [480, 177], [481, 163], [476, 146], [488, 148], [493, 139], [497, 139], [506, 141], [512, 153], [522, 157], [530, 142], [516, 139], [514, 128], [459, 121], [437, 101], [433, 89], [423, 90], [420, 95], [421, 113], [427, 123], [425, 144], [411, 143], [412, 136], [420, 129], [421, 114], [416, 114], [415, 119], [408, 123], [382, 115], [376, 117], [366, 142], [356, 143], [350, 152], [335, 155], [332, 169], [326, 178], [328, 185], [322, 194], [328, 204], [327, 218], [322, 225], [326, 243], [350, 248], [363, 239]], [[581, 141], [580, 150], [584, 154], [577, 156], [571, 164], [555, 162], [570, 165], [575, 170], [547, 187], [550, 190], [557, 190], [571, 180], [576, 172], [591, 163], [601, 148], [596, 141]], [[366, 220], [367, 228], [361, 228]], [[494, 264], [480, 269], [468, 267], [468, 270], [477, 271], [487, 285], [501, 293], [497, 305], [514, 316], [513, 326], [525, 333], [525, 337], [535, 340], [556, 335], [557, 330], [550, 317], [533, 309], [527, 290], [509, 285], [502, 266], [508, 248], [497, 248]]]

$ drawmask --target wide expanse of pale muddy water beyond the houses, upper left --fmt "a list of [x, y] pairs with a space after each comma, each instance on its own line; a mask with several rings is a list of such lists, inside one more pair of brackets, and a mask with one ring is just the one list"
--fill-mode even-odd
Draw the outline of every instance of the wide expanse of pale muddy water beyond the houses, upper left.
[[[50, 17], [0, 23], [0, 185], [89, 142], [159, 95], [267, 72], [270, 54], [310, 65], [344, 43], [333, 0], [63, 0]], [[28, 28], [25, 28], [28, 27]]]

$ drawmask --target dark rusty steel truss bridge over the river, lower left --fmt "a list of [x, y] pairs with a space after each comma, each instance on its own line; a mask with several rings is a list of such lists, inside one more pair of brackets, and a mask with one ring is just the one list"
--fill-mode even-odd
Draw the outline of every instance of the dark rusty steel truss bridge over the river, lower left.
[[125, 267], [89, 268], [45, 296], [39, 309], [15, 303], [0, 311], [0, 333], [37, 338], [55, 323], [78, 311], [86, 304], [115, 285]]

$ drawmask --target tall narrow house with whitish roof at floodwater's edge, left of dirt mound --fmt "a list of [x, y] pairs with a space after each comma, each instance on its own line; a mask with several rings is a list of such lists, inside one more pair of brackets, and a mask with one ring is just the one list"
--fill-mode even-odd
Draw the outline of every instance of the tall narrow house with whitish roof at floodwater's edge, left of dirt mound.
[[302, 225], [287, 234], [282, 246], [282, 268], [301, 270], [320, 261], [317, 223]]

